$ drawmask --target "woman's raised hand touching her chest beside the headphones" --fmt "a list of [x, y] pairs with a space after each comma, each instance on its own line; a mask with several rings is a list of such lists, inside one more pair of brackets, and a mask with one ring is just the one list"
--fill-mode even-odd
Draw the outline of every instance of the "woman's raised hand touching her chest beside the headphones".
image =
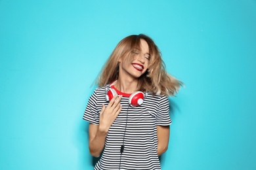
[[108, 106], [102, 105], [102, 109], [100, 111], [100, 124], [98, 129], [104, 133], [108, 132], [110, 126], [112, 126], [113, 122], [116, 120], [119, 112], [121, 112], [121, 97], [122, 95], [115, 95], [108, 103]]

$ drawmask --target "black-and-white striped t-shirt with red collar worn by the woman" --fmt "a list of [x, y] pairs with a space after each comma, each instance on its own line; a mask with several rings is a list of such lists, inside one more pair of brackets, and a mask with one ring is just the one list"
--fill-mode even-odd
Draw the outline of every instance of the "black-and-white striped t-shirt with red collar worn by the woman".
[[[108, 84], [95, 89], [85, 109], [84, 120], [99, 124], [102, 105], [108, 105], [106, 92], [109, 88]], [[167, 97], [144, 92], [142, 105], [131, 107], [128, 103], [131, 94], [121, 94], [121, 112], [108, 131], [102, 156], [95, 169], [161, 169], [156, 126], [171, 124]]]

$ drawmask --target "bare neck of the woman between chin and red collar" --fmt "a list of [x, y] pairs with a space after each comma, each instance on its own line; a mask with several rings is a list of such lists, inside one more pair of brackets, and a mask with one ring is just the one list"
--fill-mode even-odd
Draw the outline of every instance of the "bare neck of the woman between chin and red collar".
[[123, 93], [133, 93], [137, 91], [137, 86], [138, 86], [138, 79], [133, 79], [133, 80], [127, 80], [123, 78], [118, 78], [115, 87], [117, 90]]

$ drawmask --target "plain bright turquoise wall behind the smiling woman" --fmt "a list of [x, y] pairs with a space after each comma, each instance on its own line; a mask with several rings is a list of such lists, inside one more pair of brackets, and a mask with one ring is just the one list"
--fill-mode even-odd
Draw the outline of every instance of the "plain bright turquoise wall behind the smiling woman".
[[256, 169], [256, 1], [0, 1], [0, 169], [93, 169], [91, 87], [145, 33], [185, 84], [162, 169]]

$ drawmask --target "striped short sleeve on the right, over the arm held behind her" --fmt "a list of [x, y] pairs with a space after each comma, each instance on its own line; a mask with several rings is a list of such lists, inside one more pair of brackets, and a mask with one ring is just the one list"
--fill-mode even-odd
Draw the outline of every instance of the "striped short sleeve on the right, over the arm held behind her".
[[160, 98], [160, 102], [158, 105], [158, 114], [156, 117], [156, 125], [157, 126], [168, 126], [171, 124], [171, 118], [169, 115], [169, 100], [165, 95], [162, 95]]

